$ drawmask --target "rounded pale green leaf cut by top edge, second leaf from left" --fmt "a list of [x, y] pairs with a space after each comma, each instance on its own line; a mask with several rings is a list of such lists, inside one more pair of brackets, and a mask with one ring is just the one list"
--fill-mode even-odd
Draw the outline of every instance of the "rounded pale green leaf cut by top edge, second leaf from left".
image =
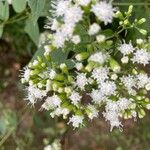
[[12, 6], [17, 13], [20, 13], [26, 8], [26, 0], [12, 0]]

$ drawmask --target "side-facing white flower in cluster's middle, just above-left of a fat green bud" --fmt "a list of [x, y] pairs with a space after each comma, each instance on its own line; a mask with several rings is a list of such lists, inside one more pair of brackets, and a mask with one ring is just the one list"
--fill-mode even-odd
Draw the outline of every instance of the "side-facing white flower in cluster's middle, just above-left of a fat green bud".
[[104, 54], [102, 52], [97, 52], [97, 53], [90, 56], [89, 61], [93, 61], [93, 62], [103, 64], [103, 63], [106, 62], [107, 57], [108, 56], [106, 54]]

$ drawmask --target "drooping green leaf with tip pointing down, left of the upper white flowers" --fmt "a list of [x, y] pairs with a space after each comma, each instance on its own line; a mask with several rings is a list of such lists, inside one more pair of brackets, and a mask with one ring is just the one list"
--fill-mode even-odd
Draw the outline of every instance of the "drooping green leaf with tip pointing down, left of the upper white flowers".
[[33, 40], [33, 42], [38, 45], [39, 43], [39, 26], [38, 23], [34, 23], [32, 18], [28, 19], [26, 21], [26, 26], [25, 26], [25, 31], [26, 33], [30, 36], [30, 38]]

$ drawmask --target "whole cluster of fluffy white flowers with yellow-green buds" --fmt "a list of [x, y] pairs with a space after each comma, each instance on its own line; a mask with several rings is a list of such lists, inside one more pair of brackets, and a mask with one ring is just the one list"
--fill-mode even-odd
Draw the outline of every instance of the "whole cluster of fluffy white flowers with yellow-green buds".
[[[42, 109], [52, 118], [62, 116], [74, 128], [98, 118], [100, 113], [111, 130], [123, 126], [120, 118], [144, 117], [145, 109], [150, 109], [150, 77], [138, 65], [150, 63], [147, 41], [138, 39], [133, 45], [120, 39], [124, 42], [116, 47], [111, 40], [116, 34], [108, 37], [103, 26], [106, 29], [121, 12], [115, 14], [116, 9], [106, 1], [60, 0], [53, 8], [54, 18], [47, 27], [54, 33], [44, 46], [45, 58], [38, 56], [22, 74], [30, 103], [41, 101]], [[95, 18], [89, 21], [90, 14]], [[78, 25], [86, 28], [84, 35], [77, 30]], [[86, 37], [87, 43], [83, 42]], [[67, 53], [68, 58], [61, 63], [53, 61], [55, 50]]]

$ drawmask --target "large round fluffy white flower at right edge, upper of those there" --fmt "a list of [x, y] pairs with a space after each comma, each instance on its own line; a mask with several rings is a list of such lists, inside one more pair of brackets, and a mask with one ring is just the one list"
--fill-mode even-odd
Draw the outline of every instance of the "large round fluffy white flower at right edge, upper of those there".
[[133, 56], [133, 62], [143, 64], [144, 66], [149, 64], [150, 61], [150, 53], [146, 51], [146, 49], [138, 49]]

